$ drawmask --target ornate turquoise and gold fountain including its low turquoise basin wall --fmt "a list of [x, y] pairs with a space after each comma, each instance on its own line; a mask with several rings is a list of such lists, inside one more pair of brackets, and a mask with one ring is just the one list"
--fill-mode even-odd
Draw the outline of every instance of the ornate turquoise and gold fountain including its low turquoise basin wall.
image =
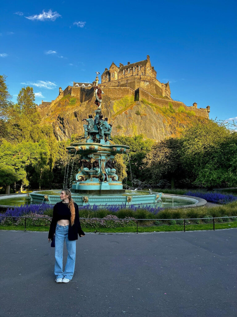
[[[112, 144], [110, 140], [112, 124], [108, 124], [108, 118], [103, 119], [101, 101], [103, 91], [98, 87], [96, 76], [95, 104], [97, 109], [84, 121], [84, 138], [82, 143], [76, 142], [67, 147], [69, 154], [81, 155], [78, 173], [70, 188], [72, 197], [78, 205], [152, 205], [161, 201], [162, 193], [150, 193], [139, 191], [125, 191], [123, 184], [118, 179], [115, 169], [115, 154], [127, 154], [130, 147]], [[45, 194], [46, 193], [46, 194]], [[45, 195], [44, 195], [45, 194]], [[33, 192], [29, 194], [31, 204], [42, 203], [55, 204], [60, 201], [59, 191], [53, 195], [47, 192]]]

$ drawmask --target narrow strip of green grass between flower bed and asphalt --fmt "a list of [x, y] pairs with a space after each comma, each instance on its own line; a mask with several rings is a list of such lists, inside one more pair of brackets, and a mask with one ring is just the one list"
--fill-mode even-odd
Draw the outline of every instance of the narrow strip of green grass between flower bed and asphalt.
[[[215, 223], [215, 230], [237, 228], [237, 221], [227, 223]], [[0, 225], [0, 230], [24, 230], [24, 226], [3, 226]], [[27, 226], [27, 231], [48, 231], [49, 227], [39, 226]], [[84, 232], [99, 232], [99, 228], [82, 228]], [[175, 225], [159, 225], [159, 226], [143, 226], [138, 227], [138, 232], [158, 232], [158, 231], [183, 231], [184, 226]], [[213, 223], [202, 223], [202, 224], [185, 224], [185, 230], [213, 230]], [[113, 232], [137, 232], [137, 227], [118, 227], [118, 228], [100, 228], [101, 233], [113, 233]]]

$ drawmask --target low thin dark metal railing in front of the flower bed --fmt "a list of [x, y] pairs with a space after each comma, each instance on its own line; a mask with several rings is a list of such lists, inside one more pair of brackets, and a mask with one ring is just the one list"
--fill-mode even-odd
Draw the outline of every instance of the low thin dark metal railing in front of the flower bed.
[[[52, 217], [27, 217], [27, 216], [0, 216], [0, 218], [21, 218], [21, 219], [25, 219], [25, 224], [24, 224], [24, 232], [26, 232], [26, 220], [27, 218], [29, 219], [52, 219]], [[113, 220], [113, 221], [125, 221], [125, 222], [131, 222], [134, 221], [137, 224], [137, 234], [138, 234], [138, 222], [139, 221], [170, 221], [170, 220], [182, 220], [183, 221], [183, 226], [184, 226], [184, 232], [185, 230], [185, 224], [187, 225], [186, 221], [188, 220], [207, 220], [207, 219], [212, 219], [213, 222], [213, 230], [215, 231], [215, 219], [223, 219], [223, 218], [237, 218], [237, 216], [229, 216], [229, 217], [208, 217], [208, 218], [180, 218], [180, 219], [114, 219], [114, 218], [80, 218], [81, 221], [83, 220], [89, 220], [89, 221], [98, 221], [99, 222], [99, 234], [100, 234], [100, 228], [101, 228], [101, 222], [102, 221], [107, 221], [107, 220]], [[1, 222], [0, 222], [1, 224]], [[14, 225], [14, 224], [13, 224]]]

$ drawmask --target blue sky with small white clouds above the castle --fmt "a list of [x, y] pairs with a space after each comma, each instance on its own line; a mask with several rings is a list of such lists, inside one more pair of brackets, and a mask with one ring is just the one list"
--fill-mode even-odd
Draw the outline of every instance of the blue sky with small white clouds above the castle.
[[146, 59], [171, 97], [237, 120], [236, 1], [5, 1], [0, 74], [13, 101], [30, 85], [36, 103], [73, 81], [92, 82], [112, 61]]

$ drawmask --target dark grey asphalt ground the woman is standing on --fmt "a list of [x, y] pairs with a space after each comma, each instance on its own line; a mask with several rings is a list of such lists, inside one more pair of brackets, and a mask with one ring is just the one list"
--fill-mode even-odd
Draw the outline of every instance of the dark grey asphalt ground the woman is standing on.
[[236, 317], [236, 242], [237, 229], [86, 234], [57, 284], [47, 232], [1, 230], [0, 316]]

